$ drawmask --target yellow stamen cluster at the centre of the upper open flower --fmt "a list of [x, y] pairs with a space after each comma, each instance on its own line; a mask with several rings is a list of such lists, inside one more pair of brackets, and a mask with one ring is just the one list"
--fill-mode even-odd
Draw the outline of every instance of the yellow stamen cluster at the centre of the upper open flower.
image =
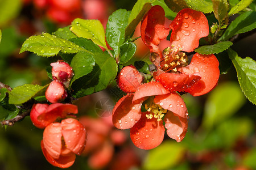
[[163, 50], [163, 59], [160, 61], [160, 68], [164, 72], [177, 71], [176, 67], [184, 67], [188, 65], [188, 57], [185, 53], [180, 52], [182, 49], [177, 49], [172, 46]]

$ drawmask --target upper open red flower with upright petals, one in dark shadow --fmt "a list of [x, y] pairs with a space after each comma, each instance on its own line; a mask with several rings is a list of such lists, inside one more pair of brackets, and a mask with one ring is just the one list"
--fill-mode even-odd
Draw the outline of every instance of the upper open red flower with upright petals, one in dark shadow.
[[[162, 53], [160, 41], [166, 39], [170, 30], [172, 48], [168, 47]], [[188, 57], [181, 52], [192, 52], [199, 46], [199, 39], [208, 34], [208, 21], [202, 12], [185, 8], [177, 14], [170, 28], [164, 28], [163, 8], [152, 7], [142, 20], [141, 35], [150, 49], [151, 61], [158, 68], [155, 79], [171, 92], [199, 96], [212, 90], [220, 76], [217, 58], [213, 54], [196, 53], [188, 65]]]

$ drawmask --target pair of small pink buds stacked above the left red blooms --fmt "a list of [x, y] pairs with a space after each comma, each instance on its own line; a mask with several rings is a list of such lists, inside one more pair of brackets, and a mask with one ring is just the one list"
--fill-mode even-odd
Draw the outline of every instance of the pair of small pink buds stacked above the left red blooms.
[[46, 99], [51, 103], [57, 103], [68, 96], [65, 88], [69, 87], [73, 71], [72, 67], [63, 61], [51, 63], [51, 66], [53, 81], [46, 90]]

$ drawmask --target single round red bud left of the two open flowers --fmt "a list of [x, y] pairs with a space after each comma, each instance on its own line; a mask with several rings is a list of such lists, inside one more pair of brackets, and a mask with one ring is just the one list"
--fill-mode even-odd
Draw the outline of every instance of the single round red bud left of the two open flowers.
[[143, 76], [133, 66], [126, 66], [117, 76], [117, 84], [119, 88], [126, 93], [133, 93], [142, 84]]

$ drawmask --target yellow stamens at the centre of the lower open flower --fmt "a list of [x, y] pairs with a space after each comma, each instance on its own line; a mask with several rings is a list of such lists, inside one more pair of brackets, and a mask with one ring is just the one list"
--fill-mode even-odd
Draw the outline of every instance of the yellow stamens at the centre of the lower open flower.
[[164, 113], [167, 113], [167, 110], [163, 109], [158, 104], [150, 104], [150, 105], [145, 104], [145, 108], [147, 109], [148, 112], [150, 112], [149, 114], [146, 114], [147, 119], [151, 119], [154, 117], [158, 121], [161, 121], [164, 116]]

